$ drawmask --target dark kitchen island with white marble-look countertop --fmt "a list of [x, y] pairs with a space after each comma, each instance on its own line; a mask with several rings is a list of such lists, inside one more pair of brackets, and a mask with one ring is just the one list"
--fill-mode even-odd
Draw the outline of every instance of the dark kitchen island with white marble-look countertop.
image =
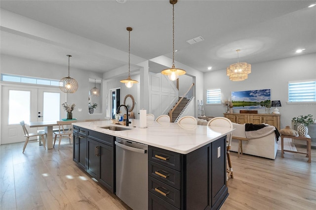
[[121, 138], [149, 146], [148, 209], [219, 209], [228, 196], [226, 135], [231, 129], [154, 121], [139, 128], [138, 120], [120, 126], [130, 129], [123, 131], [102, 128], [110, 121], [73, 125], [74, 161], [113, 193], [115, 139]]

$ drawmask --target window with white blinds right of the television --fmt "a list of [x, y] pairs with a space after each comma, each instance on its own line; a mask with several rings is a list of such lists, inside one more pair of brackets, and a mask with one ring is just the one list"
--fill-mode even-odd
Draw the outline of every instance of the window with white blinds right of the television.
[[289, 102], [316, 102], [316, 81], [289, 82]]

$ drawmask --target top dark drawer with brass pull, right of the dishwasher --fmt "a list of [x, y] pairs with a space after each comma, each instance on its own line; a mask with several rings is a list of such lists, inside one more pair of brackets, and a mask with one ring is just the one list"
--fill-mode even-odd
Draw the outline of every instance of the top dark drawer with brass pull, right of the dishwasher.
[[181, 155], [176, 152], [160, 149], [153, 146], [149, 146], [148, 148], [148, 160], [177, 171], [180, 171], [180, 158]]

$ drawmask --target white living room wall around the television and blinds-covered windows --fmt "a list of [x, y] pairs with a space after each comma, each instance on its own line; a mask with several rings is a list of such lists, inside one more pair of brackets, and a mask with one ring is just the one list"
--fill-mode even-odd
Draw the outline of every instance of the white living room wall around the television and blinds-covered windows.
[[[298, 115], [312, 114], [316, 118], [316, 103], [287, 103], [288, 82], [316, 79], [316, 54], [295, 56], [271, 62], [251, 64], [248, 79], [240, 82], [229, 80], [226, 70], [204, 73], [204, 102], [206, 90], [221, 88], [222, 102], [231, 99], [231, 91], [271, 89], [271, 100], [280, 100], [281, 128], [291, 125], [291, 119]], [[273, 107], [274, 108], [274, 107]], [[223, 116], [224, 105], [206, 105], [206, 116]], [[259, 112], [259, 113], [265, 113]]]

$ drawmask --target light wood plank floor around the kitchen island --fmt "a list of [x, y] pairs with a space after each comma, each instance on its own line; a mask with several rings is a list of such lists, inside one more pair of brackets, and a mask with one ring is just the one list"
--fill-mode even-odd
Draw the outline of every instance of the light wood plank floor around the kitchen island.
[[[0, 146], [1, 210], [126, 210], [72, 160], [72, 145], [44, 150], [29, 143]], [[305, 148], [297, 147], [298, 150]], [[221, 210], [315, 210], [316, 149], [312, 163], [303, 154], [285, 152], [276, 160], [232, 152], [234, 179]]]

